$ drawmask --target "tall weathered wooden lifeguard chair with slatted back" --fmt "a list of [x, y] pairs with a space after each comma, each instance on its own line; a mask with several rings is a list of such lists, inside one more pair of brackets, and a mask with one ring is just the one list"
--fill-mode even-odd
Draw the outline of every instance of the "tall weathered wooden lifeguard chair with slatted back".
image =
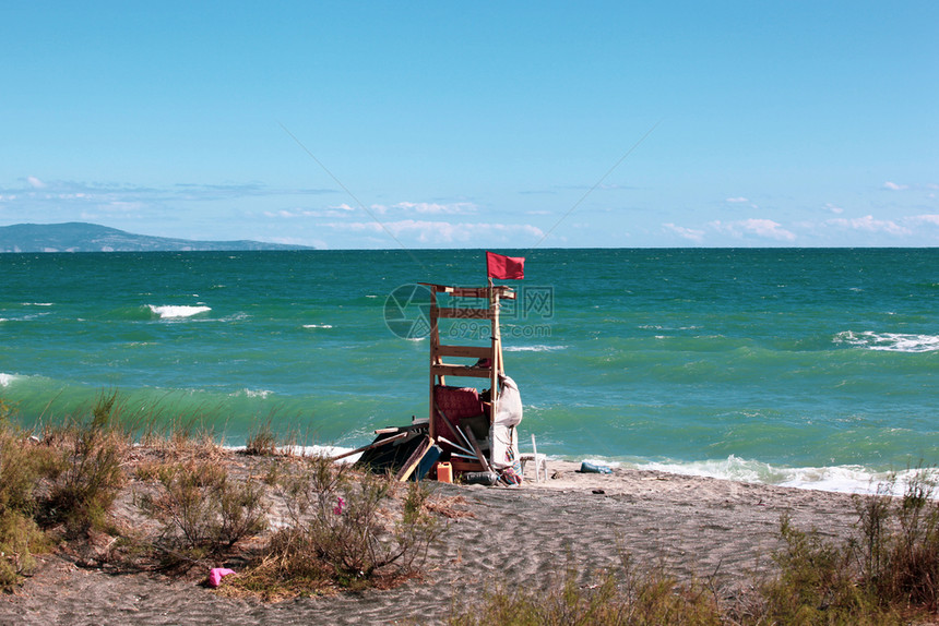
[[[504, 376], [499, 306], [502, 300], [514, 300], [515, 292], [508, 286], [492, 285], [491, 279], [487, 287], [423, 285], [430, 290], [430, 436], [450, 452], [455, 472], [490, 471], [497, 462], [496, 446], [487, 433], [492, 432], [501, 395], [500, 377]], [[444, 299], [448, 305], [441, 306]], [[462, 338], [472, 329], [475, 344], [443, 341], [440, 320], [457, 321], [450, 330], [455, 326], [457, 332], [453, 334], [460, 335], [462, 329]], [[448, 362], [452, 359], [476, 362]], [[448, 385], [452, 378], [487, 380], [488, 395], [474, 387]]]

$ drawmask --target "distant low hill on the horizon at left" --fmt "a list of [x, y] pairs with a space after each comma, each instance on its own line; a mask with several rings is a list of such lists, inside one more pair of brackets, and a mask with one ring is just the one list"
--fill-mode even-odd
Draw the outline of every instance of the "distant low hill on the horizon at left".
[[116, 228], [72, 221], [0, 226], [2, 252], [176, 252], [205, 250], [311, 250], [260, 241], [191, 241], [133, 234]]

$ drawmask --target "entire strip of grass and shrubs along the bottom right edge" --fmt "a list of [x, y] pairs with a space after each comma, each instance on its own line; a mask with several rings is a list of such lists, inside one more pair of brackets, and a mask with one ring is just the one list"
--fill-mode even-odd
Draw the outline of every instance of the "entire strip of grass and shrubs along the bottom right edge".
[[[502, 583], [483, 605], [456, 606], [448, 623], [775, 624], [890, 626], [934, 623], [939, 612], [939, 499], [934, 473], [918, 471], [895, 497], [895, 478], [855, 498], [846, 540], [797, 528], [783, 515], [783, 546], [769, 578], [722, 597], [712, 583], [679, 582], [661, 569], [622, 566], [595, 576], [569, 567], [564, 580], [533, 590]], [[584, 581], [586, 580], [586, 582]]]

